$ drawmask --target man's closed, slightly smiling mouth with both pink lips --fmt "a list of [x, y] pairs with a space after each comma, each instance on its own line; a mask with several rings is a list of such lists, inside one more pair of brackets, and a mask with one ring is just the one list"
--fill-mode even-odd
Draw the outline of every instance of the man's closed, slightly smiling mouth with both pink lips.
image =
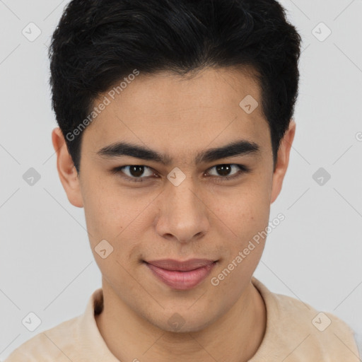
[[215, 267], [216, 261], [211, 259], [189, 259], [177, 261], [174, 259], [144, 261], [153, 276], [170, 288], [187, 290], [200, 284]]

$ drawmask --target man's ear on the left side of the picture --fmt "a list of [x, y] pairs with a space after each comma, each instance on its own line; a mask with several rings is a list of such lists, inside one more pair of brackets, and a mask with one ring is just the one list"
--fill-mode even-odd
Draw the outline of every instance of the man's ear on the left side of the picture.
[[69, 202], [77, 207], [83, 207], [81, 187], [78, 173], [69, 154], [62, 130], [57, 127], [52, 131], [52, 144], [57, 153], [57, 169], [60, 182], [64, 187]]

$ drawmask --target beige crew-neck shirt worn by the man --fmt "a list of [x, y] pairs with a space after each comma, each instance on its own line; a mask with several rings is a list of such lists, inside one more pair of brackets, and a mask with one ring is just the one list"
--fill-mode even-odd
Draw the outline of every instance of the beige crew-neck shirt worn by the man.
[[[249, 362], [358, 362], [353, 330], [330, 313], [302, 301], [272, 293], [252, 277], [267, 309], [267, 328]], [[95, 322], [103, 308], [97, 289], [83, 315], [66, 320], [25, 341], [5, 362], [119, 362], [107, 348]]]

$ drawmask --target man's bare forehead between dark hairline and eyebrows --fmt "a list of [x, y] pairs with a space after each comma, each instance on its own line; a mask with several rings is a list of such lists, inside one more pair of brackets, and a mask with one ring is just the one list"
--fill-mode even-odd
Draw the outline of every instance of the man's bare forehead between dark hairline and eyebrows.
[[268, 142], [259, 86], [249, 70], [140, 73], [123, 88], [119, 83], [94, 103], [107, 105], [83, 134], [93, 149], [121, 139], [185, 154], [233, 139]]

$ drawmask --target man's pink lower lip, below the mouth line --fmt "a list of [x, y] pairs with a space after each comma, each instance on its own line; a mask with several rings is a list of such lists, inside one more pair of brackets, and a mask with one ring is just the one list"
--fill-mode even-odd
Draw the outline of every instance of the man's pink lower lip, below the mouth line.
[[212, 264], [207, 264], [204, 267], [190, 271], [173, 271], [155, 267], [152, 264], [146, 263], [147, 267], [151, 269], [153, 274], [157, 276], [160, 281], [163, 281], [163, 283], [173, 289], [179, 289], [182, 291], [194, 288], [194, 286], [201, 283], [206, 276], [210, 274], [211, 269], [214, 268], [215, 264], [216, 262], [213, 262]]

